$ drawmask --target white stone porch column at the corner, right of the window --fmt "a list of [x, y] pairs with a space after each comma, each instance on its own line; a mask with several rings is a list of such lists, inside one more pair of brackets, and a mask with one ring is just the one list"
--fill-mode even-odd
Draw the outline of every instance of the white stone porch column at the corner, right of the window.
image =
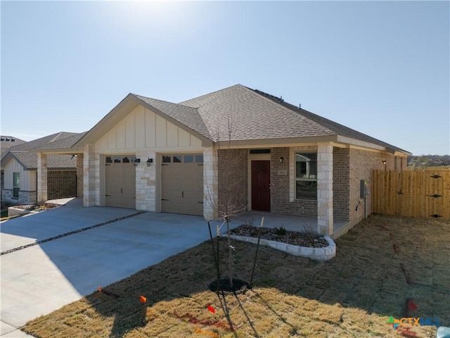
[[333, 146], [317, 147], [317, 231], [333, 233]]

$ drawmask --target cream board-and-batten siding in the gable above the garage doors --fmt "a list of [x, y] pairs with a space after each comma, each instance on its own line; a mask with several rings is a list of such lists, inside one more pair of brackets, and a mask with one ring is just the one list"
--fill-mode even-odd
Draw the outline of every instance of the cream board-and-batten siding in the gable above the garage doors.
[[202, 151], [202, 142], [174, 123], [138, 106], [96, 143], [96, 151], [134, 153], [155, 151]]

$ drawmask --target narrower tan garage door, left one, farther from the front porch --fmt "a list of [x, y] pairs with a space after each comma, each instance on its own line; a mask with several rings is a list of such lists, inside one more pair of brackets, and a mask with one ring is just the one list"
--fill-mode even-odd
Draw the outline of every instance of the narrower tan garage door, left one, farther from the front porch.
[[136, 208], [136, 167], [132, 155], [105, 157], [105, 205]]

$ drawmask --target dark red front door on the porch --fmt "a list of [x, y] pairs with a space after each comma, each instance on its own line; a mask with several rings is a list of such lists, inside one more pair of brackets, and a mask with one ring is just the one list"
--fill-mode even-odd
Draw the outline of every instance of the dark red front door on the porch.
[[252, 210], [270, 211], [270, 161], [252, 161]]

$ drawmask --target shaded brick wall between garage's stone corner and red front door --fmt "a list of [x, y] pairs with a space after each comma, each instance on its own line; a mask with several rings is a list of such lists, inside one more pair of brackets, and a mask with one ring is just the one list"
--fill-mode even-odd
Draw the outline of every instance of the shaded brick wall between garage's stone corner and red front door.
[[217, 154], [219, 213], [248, 210], [248, 149], [219, 149]]

